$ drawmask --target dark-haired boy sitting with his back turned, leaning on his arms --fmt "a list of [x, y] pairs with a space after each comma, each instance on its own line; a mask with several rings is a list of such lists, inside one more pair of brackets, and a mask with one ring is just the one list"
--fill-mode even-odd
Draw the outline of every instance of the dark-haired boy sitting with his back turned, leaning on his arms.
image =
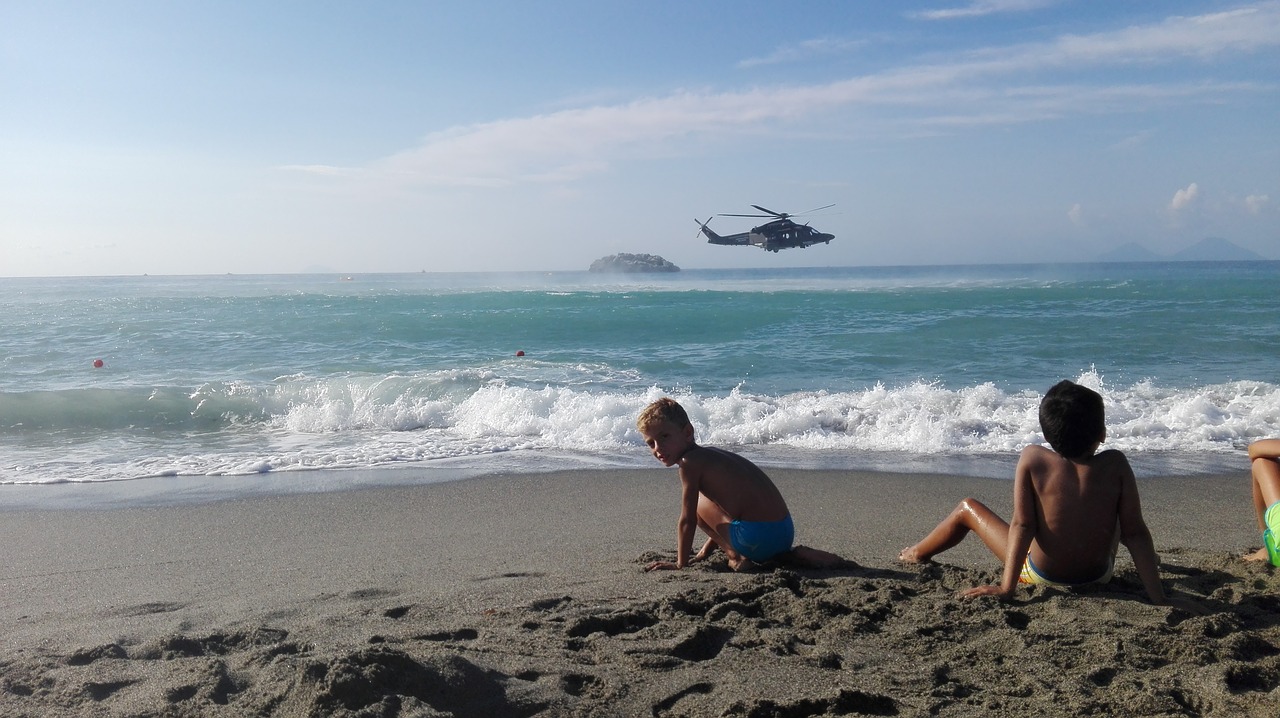
[[998, 586], [977, 586], [961, 595], [1010, 599], [1020, 582], [1061, 586], [1110, 581], [1119, 541], [1129, 549], [1151, 603], [1167, 604], [1133, 468], [1119, 451], [1094, 453], [1106, 439], [1102, 397], [1060, 381], [1041, 401], [1039, 421], [1053, 451], [1041, 445], [1023, 449], [1014, 472], [1011, 523], [980, 502], [964, 499], [899, 558], [927, 562], [974, 531], [1004, 559], [1005, 572]]

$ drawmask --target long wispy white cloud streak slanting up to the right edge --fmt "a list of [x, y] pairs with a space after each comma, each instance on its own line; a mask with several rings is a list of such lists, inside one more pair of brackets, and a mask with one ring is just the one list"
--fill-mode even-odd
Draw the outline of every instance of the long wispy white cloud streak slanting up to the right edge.
[[[1275, 88], [1207, 81], [1093, 86], [1073, 79], [1050, 84], [1044, 77], [1046, 70], [1078, 73], [1089, 67], [1212, 58], [1263, 45], [1280, 45], [1277, 1], [1210, 15], [1175, 17], [1115, 32], [992, 47], [827, 84], [741, 92], [685, 91], [627, 104], [461, 125], [434, 132], [419, 146], [372, 163], [364, 172], [315, 164], [293, 169], [312, 175], [355, 173], [353, 177], [369, 175], [404, 186], [504, 187], [571, 182], [604, 172], [620, 159], [667, 151], [675, 142], [695, 137], [730, 140], [735, 133], [829, 119], [831, 113], [841, 109], [897, 108], [906, 113], [877, 128], [868, 125], [865, 114], [840, 119], [841, 132], [856, 133], [1016, 124], [1138, 111], [1175, 100], [1220, 101], [1229, 93]], [[1038, 84], [1007, 82], [1020, 73], [1034, 73]]]

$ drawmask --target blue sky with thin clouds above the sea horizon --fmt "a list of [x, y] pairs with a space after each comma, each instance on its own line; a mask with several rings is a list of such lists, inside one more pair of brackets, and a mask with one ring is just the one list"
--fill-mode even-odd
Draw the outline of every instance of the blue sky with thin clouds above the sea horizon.
[[[836, 238], [698, 235], [751, 205]], [[1280, 1], [0, 3], [0, 276], [1206, 237], [1280, 259]]]

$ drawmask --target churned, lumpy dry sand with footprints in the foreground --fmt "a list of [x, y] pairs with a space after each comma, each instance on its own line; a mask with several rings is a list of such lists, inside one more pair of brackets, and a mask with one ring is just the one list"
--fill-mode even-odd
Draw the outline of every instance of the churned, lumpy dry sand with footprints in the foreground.
[[[8, 653], [5, 715], [1257, 715], [1280, 705], [1280, 578], [1165, 554], [1204, 613], [1137, 576], [961, 600], [993, 575], [929, 564], [662, 577], [658, 598], [413, 603], [298, 625]], [[403, 598], [403, 596], [398, 596]], [[515, 600], [515, 596], [513, 596]]]

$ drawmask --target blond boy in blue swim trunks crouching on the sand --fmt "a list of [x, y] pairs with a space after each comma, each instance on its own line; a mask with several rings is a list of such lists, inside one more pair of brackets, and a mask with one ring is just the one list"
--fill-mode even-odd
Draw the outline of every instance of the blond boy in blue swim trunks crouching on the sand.
[[[654, 458], [680, 466], [680, 521], [676, 525], [676, 562], [654, 561], [645, 571], [684, 568], [724, 552], [735, 571], [754, 563], [783, 561], [810, 568], [856, 566], [833, 553], [792, 546], [791, 512], [773, 481], [750, 461], [724, 449], [700, 447], [694, 425], [678, 402], [662, 398], [640, 412], [636, 429]], [[701, 529], [707, 543], [696, 555], [694, 534]]]

